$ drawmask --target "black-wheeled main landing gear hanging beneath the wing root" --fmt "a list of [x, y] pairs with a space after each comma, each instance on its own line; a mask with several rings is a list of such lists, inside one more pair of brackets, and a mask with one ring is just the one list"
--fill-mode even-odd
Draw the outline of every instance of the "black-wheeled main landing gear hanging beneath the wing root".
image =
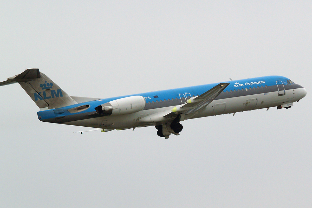
[[180, 116], [177, 116], [171, 123], [157, 125], [155, 128], [157, 129], [158, 136], [168, 139], [171, 133], [180, 135], [179, 133], [182, 131], [183, 126], [180, 123]]

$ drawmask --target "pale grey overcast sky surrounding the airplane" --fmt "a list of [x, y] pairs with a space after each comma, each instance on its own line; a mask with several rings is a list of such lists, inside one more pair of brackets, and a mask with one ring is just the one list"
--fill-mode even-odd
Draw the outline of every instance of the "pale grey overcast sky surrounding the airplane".
[[2, 1], [1, 80], [39, 68], [108, 98], [283, 75], [291, 109], [182, 122], [180, 136], [43, 123], [0, 88], [1, 207], [311, 207], [311, 1]]

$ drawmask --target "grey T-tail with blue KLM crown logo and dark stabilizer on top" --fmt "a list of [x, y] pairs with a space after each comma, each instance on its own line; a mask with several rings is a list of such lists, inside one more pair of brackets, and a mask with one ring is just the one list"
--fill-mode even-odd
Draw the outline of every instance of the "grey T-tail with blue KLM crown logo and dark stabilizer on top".
[[7, 79], [7, 81], [0, 82], [0, 85], [18, 82], [39, 108], [53, 109], [77, 104], [49, 77], [40, 73], [39, 69], [27, 69]]

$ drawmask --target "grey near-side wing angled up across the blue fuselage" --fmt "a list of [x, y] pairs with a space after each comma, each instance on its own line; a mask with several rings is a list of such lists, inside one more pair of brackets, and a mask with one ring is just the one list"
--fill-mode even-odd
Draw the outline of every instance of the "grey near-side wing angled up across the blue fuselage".
[[193, 114], [205, 109], [209, 103], [212, 102], [230, 83], [220, 83], [213, 88], [209, 89], [203, 94], [188, 99], [187, 103], [174, 107], [172, 113], [166, 116], [172, 116], [173, 114]]

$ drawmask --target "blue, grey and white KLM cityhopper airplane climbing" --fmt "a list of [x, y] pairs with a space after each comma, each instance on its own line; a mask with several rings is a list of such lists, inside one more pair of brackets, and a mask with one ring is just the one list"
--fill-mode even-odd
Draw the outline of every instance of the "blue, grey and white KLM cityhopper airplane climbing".
[[99, 128], [102, 132], [155, 126], [157, 135], [164, 138], [179, 135], [183, 129], [180, 122], [187, 119], [271, 107], [289, 109], [307, 94], [304, 87], [283, 76], [230, 80], [113, 98], [88, 98], [70, 96], [39, 69], [27, 69], [0, 82], [0, 86], [20, 84], [39, 107], [38, 119], [43, 122]]

